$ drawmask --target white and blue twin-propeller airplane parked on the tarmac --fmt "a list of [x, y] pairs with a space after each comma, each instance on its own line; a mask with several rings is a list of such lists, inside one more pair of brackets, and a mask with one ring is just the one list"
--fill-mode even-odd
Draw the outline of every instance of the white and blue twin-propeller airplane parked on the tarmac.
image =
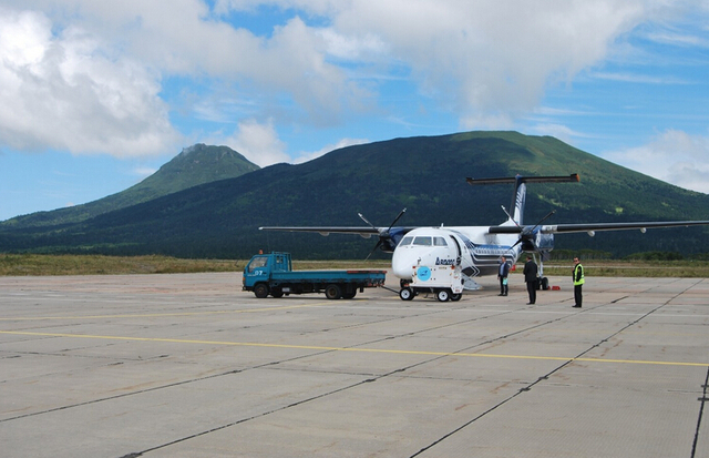
[[[372, 250], [381, 248], [387, 253], [393, 253], [391, 259], [392, 273], [400, 278], [400, 296], [410, 301], [412, 294], [410, 287], [415, 276], [418, 266], [452, 266], [460, 268], [464, 289], [479, 289], [475, 277], [484, 275], [497, 275], [500, 261], [505, 256], [506, 262], [513, 266], [522, 253], [531, 254], [540, 266], [540, 277], [545, 278], [543, 261], [548, 257], [548, 252], [554, 248], [554, 234], [583, 233], [594, 236], [598, 231], [639, 230], [645, 233], [651, 227], [676, 227], [709, 225], [709, 221], [667, 221], [667, 222], [638, 222], [638, 223], [586, 223], [586, 224], [553, 224], [542, 223], [552, 216], [549, 212], [534, 225], [524, 224], [524, 206], [526, 200], [527, 183], [578, 183], [578, 174], [563, 176], [522, 176], [499, 179], [472, 179], [466, 182], [471, 185], [514, 184], [512, 200], [513, 214], [510, 214], [504, 205], [502, 210], [507, 220], [496, 226], [451, 226], [445, 227], [404, 227], [394, 226], [407, 208], [394, 218], [388, 227], [378, 227], [371, 224], [359, 213], [359, 217], [368, 224], [360, 227], [284, 227], [263, 226], [261, 231], [288, 231], [288, 232], [315, 232], [321, 235], [331, 233], [358, 234], [364, 238], [378, 236], [379, 241]], [[371, 255], [371, 253], [370, 253]], [[369, 257], [369, 256], [368, 256]], [[450, 293], [450, 291], [448, 292]], [[441, 294], [439, 301], [460, 299], [460, 295]]]

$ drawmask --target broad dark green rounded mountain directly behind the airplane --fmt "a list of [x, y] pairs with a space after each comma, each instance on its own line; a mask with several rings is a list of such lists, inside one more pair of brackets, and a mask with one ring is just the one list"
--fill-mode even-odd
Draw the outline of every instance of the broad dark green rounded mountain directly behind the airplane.
[[[475, 186], [466, 176], [567, 175], [580, 183], [530, 184], [526, 223], [707, 220], [709, 195], [615, 165], [551, 136], [466, 132], [394, 139], [277, 164], [106, 212], [81, 222], [0, 226], [0, 252], [158, 253], [244, 258], [259, 248], [300, 258], [361, 258], [374, 240], [266, 233], [261, 225], [492, 225], [505, 220], [512, 186]], [[615, 255], [709, 252], [706, 227], [558, 235], [557, 248]]]

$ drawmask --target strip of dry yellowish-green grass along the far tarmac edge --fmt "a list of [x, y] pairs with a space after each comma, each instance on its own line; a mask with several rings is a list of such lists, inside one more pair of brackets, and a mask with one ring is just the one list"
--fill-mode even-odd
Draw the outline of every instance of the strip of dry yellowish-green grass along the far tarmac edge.
[[[0, 254], [1, 276], [119, 275], [240, 272], [247, 259], [182, 259], [168, 256], [99, 256]], [[294, 261], [295, 269], [389, 268], [390, 261]], [[517, 264], [515, 273], [522, 273]], [[616, 277], [709, 277], [707, 261], [589, 261], [587, 276]], [[569, 275], [572, 264], [547, 262], [545, 275]]]

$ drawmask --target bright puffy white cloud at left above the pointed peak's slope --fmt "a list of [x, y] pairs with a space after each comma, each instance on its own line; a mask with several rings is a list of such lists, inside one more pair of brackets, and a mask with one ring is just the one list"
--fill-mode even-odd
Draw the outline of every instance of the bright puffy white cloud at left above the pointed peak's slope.
[[0, 142], [119, 157], [173, 147], [160, 84], [130, 59], [42, 13], [0, 9]]

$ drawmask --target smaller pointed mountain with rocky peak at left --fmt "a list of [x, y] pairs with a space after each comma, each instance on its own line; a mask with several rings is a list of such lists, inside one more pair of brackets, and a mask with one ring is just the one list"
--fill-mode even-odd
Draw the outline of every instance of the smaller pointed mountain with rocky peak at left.
[[258, 165], [250, 163], [228, 146], [197, 143], [183, 149], [157, 172], [125, 191], [83, 205], [18, 216], [0, 223], [0, 230], [2, 226], [49, 227], [78, 223], [199, 184], [240, 176], [258, 169]]

